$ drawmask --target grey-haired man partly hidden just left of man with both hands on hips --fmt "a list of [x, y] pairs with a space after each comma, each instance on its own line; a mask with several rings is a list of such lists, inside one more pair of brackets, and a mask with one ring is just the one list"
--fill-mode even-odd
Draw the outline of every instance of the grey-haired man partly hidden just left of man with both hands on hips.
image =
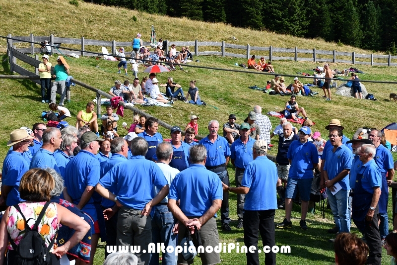
[[[110, 145], [110, 152], [112, 156], [101, 163], [101, 178], [105, 176], [114, 166], [121, 162], [127, 161], [128, 156], [128, 143], [124, 138], [116, 137], [112, 140]], [[110, 189], [111, 192], [115, 193], [116, 190]], [[103, 209], [103, 214], [105, 216], [105, 227], [106, 227], [106, 246], [116, 246], [117, 241], [117, 207], [115, 201], [108, 200], [102, 197], [101, 206]], [[105, 251], [105, 259], [109, 255]]]

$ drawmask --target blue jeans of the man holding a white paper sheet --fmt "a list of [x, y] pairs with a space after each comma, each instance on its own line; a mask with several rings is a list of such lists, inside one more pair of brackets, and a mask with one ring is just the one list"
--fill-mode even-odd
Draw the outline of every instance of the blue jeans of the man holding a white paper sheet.
[[330, 202], [333, 220], [339, 232], [350, 232], [350, 213], [347, 207], [349, 190], [340, 189], [335, 195], [327, 188], [328, 200]]

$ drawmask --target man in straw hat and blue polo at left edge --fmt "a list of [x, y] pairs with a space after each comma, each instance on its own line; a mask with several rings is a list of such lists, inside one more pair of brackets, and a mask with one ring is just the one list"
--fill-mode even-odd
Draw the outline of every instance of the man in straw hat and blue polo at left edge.
[[19, 203], [19, 182], [25, 172], [29, 170], [29, 164], [23, 158], [27, 152], [30, 141], [33, 139], [24, 129], [17, 129], [10, 133], [7, 146], [8, 151], [3, 162], [2, 185], [0, 206], [12, 206]]

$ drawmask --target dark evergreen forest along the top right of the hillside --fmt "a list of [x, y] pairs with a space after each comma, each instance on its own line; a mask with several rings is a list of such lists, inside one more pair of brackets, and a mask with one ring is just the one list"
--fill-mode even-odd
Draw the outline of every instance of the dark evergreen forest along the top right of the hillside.
[[[87, 0], [91, 1], [91, 0]], [[397, 54], [396, 0], [92, 0]]]

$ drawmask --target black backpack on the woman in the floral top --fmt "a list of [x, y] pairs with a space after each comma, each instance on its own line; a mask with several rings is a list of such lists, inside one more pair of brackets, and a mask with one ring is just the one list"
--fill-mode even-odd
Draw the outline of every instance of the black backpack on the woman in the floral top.
[[32, 228], [28, 226], [28, 221], [34, 219], [29, 218], [29, 220], [26, 220], [19, 208], [19, 205], [14, 205], [15, 209], [22, 215], [22, 218], [25, 221], [25, 235], [21, 241], [19, 241], [19, 245], [15, 245], [15, 242], [11, 238], [9, 240], [12, 248], [16, 251], [14, 265], [52, 265], [50, 250], [54, 245], [57, 235], [54, 236], [54, 239], [47, 248], [38, 230], [38, 225], [40, 224], [41, 219], [43, 219], [48, 205], [50, 205], [50, 202], [47, 202], [44, 205]]

